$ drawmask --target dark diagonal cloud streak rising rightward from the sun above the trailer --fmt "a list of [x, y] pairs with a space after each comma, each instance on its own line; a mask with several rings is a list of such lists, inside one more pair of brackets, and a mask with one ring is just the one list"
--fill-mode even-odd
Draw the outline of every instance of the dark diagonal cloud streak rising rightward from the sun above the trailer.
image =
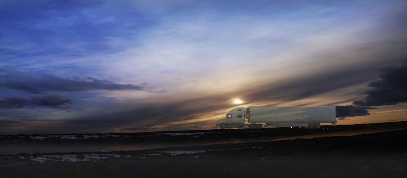
[[374, 79], [374, 71], [371, 68], [372, 66], [368, 65], [355, 65], [313, 75], [304, 74], [302, 77], [284, 79], [254, 88], [254, 92], [246, 94], [243, 99], [246, 102], [304, 99], [338, 88], [371, 81]]

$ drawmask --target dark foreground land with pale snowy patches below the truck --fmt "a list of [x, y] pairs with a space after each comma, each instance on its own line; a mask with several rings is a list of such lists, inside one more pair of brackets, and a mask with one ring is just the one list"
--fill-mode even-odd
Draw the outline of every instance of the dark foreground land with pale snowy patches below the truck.
[[[2, 136], [2, 148], [25, 146], [28, 151], [0, 155], [0, 172], [1, 177], [405, 177], [406, 125], [392, 122], [317, 130], [226, 129], [110, 137]], [[42, 144], [120, 147], [142, 143], [155, 143], [156, 148], [28, 153], [30, 147]]]

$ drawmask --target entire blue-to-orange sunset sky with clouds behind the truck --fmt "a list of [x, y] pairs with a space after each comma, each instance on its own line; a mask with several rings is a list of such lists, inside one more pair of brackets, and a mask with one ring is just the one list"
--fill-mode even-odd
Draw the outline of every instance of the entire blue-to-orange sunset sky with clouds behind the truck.
[[405, 0], [2, 0], [0, 134], [214, 129], [248, 106], [406, 121], [405, 19]]

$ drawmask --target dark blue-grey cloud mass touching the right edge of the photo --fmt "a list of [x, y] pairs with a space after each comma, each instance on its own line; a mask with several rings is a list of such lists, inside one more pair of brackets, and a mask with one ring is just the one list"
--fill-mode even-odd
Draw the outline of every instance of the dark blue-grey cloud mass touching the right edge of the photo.
[[403, 64], [381, 70], [381, 79], [372, 81], [368, 86], [373, 90], [363, 92], [367, 97], [354, 101], [355, 105], [380, 106], [407, 102], [407, 60]]

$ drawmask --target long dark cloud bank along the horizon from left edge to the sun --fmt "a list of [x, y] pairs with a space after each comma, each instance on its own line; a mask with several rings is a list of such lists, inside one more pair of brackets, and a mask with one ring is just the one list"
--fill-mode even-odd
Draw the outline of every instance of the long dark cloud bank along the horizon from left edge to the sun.
[[[124, 103], [127, 106], [120, 111], [93, 113], [89, 116], [65, 120], [43, 119], [18, 119], [15, 124], [28, 127], [37, 122], [38, 127], [31, 128], [24, 133], [102, 133], [112, 131], [147, 131], [149, 129], [171, 130], [179, 128], [179, 124], [185, 120], [193, 120], [199, 117], [205, 118], [212, 112], [228, 112], [234, 105], [225, 96], [209, 96], [199, 99], [173, 101], [166, 103]], [[131, 106], [132, 109], [129, 109]], [[117, 108], [117, 107], [116, 107]], [[213, 118], [215, 120], [215, 118]], [[175, 123], [173, 123], [175, 122]], [[177, 123], [179, 122], [179, 123]], [[202, 129], [201, 124], [207, 124], [207, 120], [196, 120], [190, 124], [182, 124], [181, 129]], [[161, 127], [160, 125], [168, 126]], [[194, 125], [192, 125], [194, 124]], [[19, 128], [6, 127], [3, 133], [22, 133]]]

